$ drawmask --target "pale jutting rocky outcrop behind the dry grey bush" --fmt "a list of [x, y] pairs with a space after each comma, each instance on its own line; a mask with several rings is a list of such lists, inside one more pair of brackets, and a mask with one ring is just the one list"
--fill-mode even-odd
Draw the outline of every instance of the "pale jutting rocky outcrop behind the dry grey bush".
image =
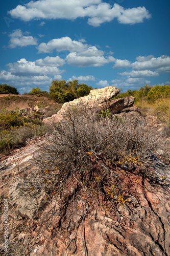
[[110, 86], [103, 89], [91, 90], [88, 96], [81, 97], [63, 104], [60, 111], [52, 117], [45, 118], [44, 123], [61, 121], [65, 111], [70, 108], [79, 109], [83, 111], [95, 111], [101, 113], [101, 110], [110, 109], [112, 113], [117, 113], [123, 109], [133, 106], [134, 97], [127, 97], [112, 100], [114, 96], [119, 93], [116, 87]]

